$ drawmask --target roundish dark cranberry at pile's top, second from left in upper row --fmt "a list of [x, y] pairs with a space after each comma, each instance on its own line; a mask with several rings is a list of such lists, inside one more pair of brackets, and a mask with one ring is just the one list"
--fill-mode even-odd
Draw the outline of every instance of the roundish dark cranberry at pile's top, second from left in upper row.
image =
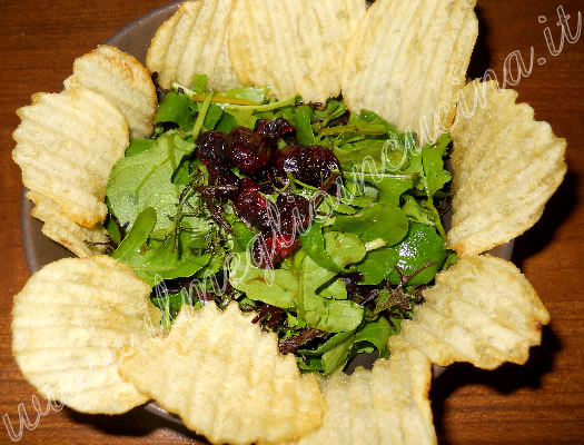
[[227, 156], [246, 174], [264, 169], [271, 160], [271, 145], [246, 127], [236, 127], [227, 136]]

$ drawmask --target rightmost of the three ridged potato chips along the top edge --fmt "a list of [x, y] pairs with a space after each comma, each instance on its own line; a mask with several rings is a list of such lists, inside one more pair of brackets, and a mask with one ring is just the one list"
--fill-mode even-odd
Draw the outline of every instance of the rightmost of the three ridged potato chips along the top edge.
[[446, 131], [478, 33], [476, 0], [377, 0], [350, 38], [342, 90], [422, 145]]

